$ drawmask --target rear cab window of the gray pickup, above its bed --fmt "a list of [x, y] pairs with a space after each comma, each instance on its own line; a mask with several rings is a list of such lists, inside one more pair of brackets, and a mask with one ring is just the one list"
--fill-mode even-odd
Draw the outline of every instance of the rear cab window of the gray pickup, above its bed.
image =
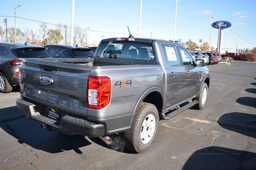
[[102, 42], [96, 57], [155, 62], [152, 43], [131, 41]]

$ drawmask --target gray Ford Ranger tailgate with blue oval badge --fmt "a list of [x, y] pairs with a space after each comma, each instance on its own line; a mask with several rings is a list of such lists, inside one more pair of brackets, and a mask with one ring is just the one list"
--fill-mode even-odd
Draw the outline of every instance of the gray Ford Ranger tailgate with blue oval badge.
[[[87, 117], [87, 79], [90, 65], [62, 63], [43, 59], [26, 59], [20, 74], [21, 94], [46, 106], [60, 109], [62, 114]], [[42, 77], [48, 77], [52, 84]]]

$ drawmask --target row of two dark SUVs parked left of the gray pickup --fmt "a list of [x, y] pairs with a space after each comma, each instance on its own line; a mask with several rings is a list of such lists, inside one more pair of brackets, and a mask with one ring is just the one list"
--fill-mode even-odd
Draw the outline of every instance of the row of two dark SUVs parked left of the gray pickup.
[[25, 58], [83, 58], [93, 57], [97, 47], [78, 45], [46, 45], [0, 43], [0, 92], [9, 93], [19, 85], [19, 66]]

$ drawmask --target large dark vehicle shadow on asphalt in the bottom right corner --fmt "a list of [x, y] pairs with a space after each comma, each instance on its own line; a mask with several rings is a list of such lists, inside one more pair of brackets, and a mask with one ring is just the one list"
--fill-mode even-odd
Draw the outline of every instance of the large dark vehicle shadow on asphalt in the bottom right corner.
[[256, 169], [256, 153], [211, 146], [194, 152], [183, 166], [191, 169]]

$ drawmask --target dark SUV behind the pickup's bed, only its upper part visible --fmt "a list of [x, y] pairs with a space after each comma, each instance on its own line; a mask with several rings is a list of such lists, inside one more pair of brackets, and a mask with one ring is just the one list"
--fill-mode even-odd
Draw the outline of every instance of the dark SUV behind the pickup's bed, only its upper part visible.
[[93, 57], [92, 49], [78, 45], [53, 44], [44, 46], [52, 58]]

